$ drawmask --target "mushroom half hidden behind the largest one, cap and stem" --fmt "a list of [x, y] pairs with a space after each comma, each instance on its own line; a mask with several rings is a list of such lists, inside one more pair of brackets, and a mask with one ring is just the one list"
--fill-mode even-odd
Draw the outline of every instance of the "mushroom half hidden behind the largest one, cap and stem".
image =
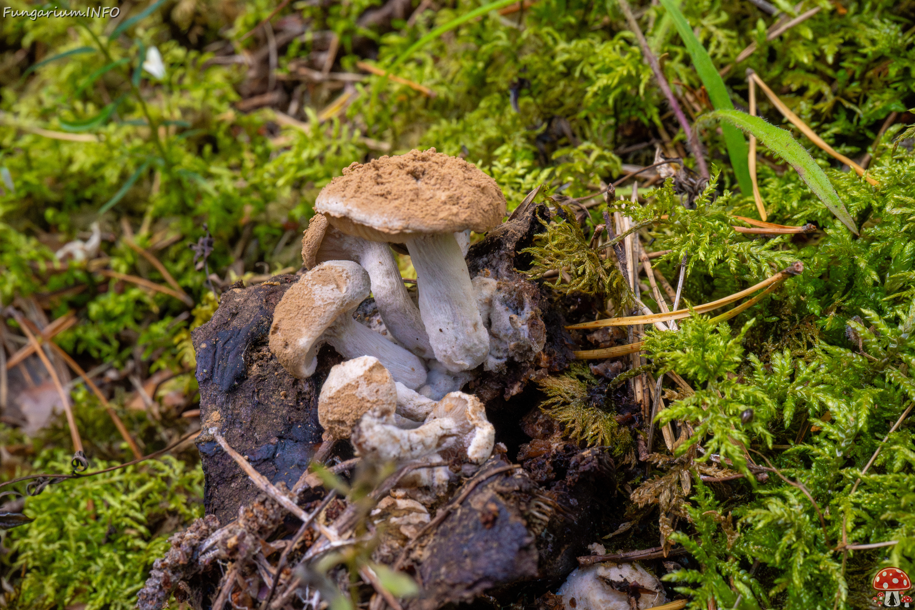
[[328, 226], [316, 214], [302, 238], [302, 262], [313, 269], [320, 262], [358, 262], [369, 273], [371, 294], [384, 326], [401, 345], [424, 359], [434, 358], [419, 309], [407, 292], [391, 248], [379, 241], [363, 240]]

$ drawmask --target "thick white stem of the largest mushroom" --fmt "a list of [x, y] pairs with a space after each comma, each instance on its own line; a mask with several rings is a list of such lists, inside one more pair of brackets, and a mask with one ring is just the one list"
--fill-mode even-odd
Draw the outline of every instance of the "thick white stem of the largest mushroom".
[[436, 359], [448, 370], [476, 369], [490, 351], [467, 262], [454, 233], [406, 241], [419, 286], [419, 312]]

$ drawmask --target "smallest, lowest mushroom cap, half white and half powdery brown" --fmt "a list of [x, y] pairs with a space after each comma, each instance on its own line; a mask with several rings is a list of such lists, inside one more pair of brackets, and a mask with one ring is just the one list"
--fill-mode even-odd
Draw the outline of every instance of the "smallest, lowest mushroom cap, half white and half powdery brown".
[[362, 415], [393, 415], [396, 403], [391, 373], [377, 358], [361, 356], [330, 369], [318, 396], [318, 423], [334, 438], [350, 438]]

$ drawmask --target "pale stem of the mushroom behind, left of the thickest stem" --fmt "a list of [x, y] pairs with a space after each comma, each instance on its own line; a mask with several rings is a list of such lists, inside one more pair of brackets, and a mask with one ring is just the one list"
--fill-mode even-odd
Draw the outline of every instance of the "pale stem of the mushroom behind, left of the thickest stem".
[[404, 348], [422, 358], [432, 358], [435, 352], [425, 333], [423, 318], [404, 286], [391, 248], [378, 241], [361, 241], [364, 246], [358, 262], [369, 272], [371, 294], [384, 326]]

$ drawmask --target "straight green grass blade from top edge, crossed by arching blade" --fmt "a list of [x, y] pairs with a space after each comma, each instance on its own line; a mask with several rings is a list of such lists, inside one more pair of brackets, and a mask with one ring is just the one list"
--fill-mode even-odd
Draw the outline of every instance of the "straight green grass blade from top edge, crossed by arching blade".
[[[689, 51], [690, 57], [693, 58], [695, 71], [699, 73], [699, 78], [705, 85], [705, 91], [708, 92], [708, 99], [715, 106], [716, 110], [734, 110], [734, 104], [725, 88], [725, 81], [721, 79], [718, 70], [708, 53], [693, 34], [693, 29], [689, 27], [686, 17], [677, 7], [678, 3], [674, 0], [661, 0], [661, 4], [667, 9], [667, 14], [673, 18], [673, 25], [677, 28], [680, 37], [683, 38], [686, 50]], [[749, 148], [747, 140], [744, 139], [740, 130], [733, 125], [724, 124], [721, 131], [725, 134], [725, 144], [727, 144], [727, 155], [731, 157], [731, 166], [734, 167], [734, 174], [737, 176], [737, 184], [740, 185], [740, 191], [744, 195], [753, 192], [753, 183], [749, 179], [749, 166], [747, 156]]]

